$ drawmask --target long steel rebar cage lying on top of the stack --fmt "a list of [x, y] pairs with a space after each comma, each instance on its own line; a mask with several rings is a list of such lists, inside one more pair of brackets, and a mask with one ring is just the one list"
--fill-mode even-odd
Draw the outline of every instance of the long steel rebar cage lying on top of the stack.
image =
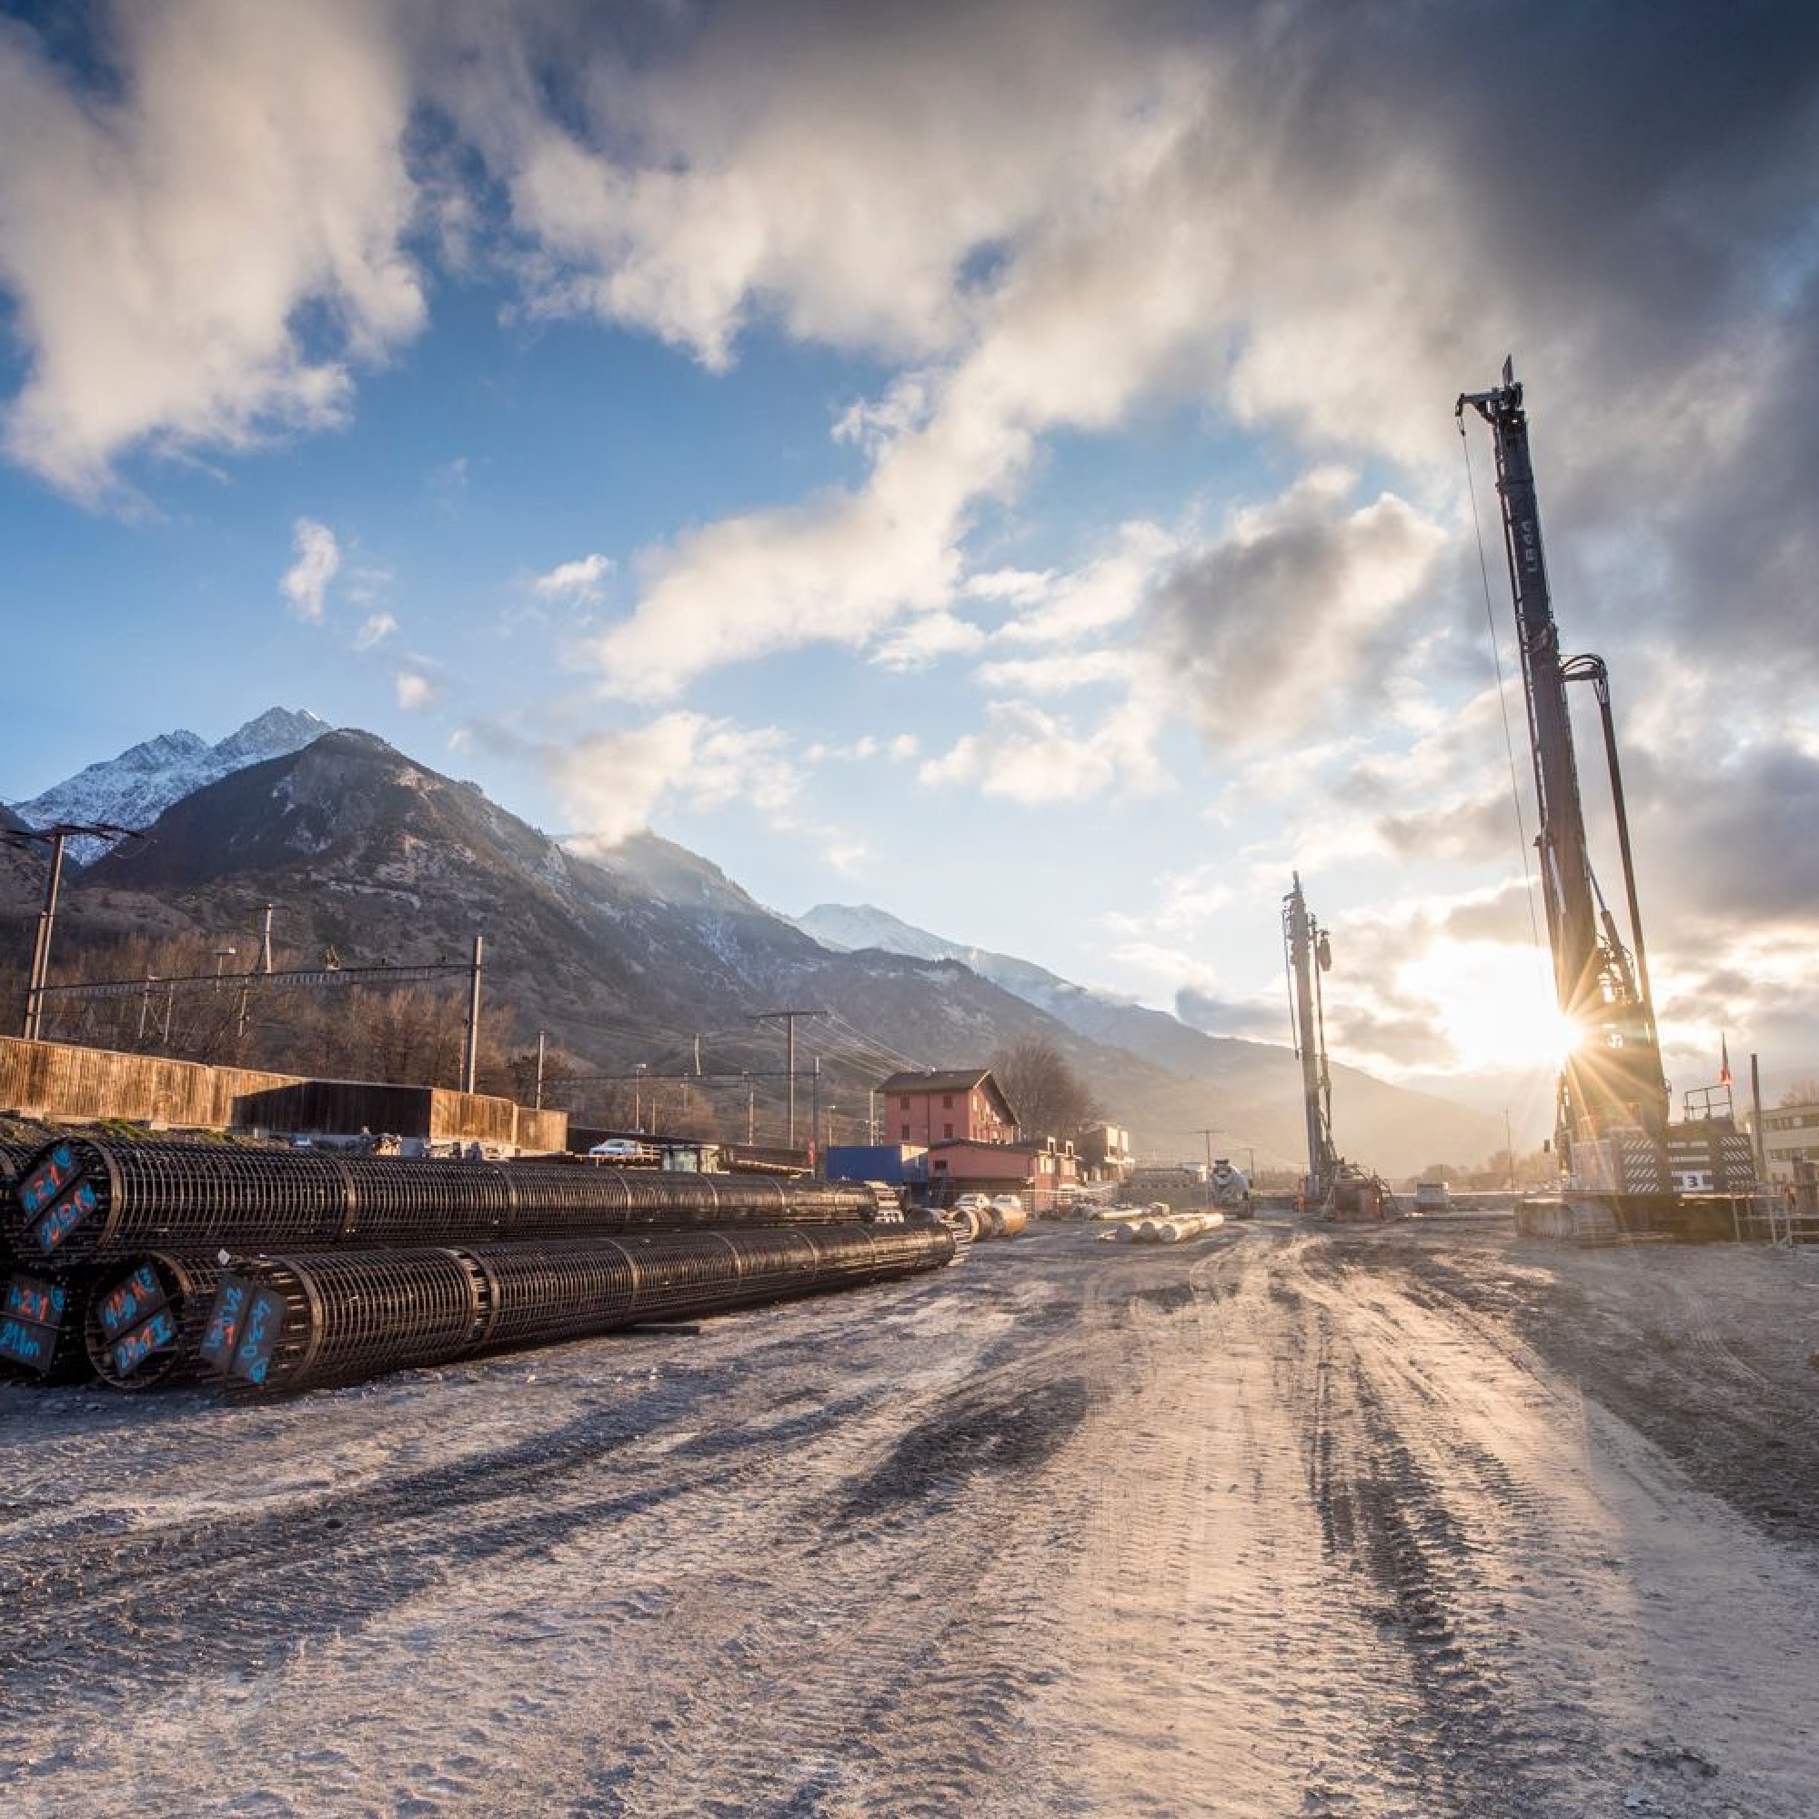
[[64, 1137], [18, 1170], [4, 1226], [22, 1259], [45, 1266], [144, 1250], [389, 1250], [875, 1213], [877, 1195], [849, 1182]]

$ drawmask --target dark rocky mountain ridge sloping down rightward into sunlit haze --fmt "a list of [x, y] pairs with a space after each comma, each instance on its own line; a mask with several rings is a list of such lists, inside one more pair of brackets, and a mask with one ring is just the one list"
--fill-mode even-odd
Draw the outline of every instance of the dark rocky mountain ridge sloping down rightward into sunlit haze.
[[[826, 1068], [800, 1097], [819, 1099], [842, 1139], [868, 1128], [871, 1088], [904, 1060], [982, 1064], [1035, 1035], [1062, 1050], [1146, 1153], [1199, 1155], [1206, 1124], [1262, 1161], [1299, 1153], [1299, 1066], [1288, 1050], [1221, 1048], [1221, 1039], [1179, 1026], [1208, 1044], [1202, 1062], [1211, 1053], [1219, 1066], [1171, 1071], [957, 955], [831, 950], [711, 860], [655, 833], [600, 857], [577, 855], [475, 784], [358, 729], [244, 764], [171, 804], [149, 839], [67, 880], [58, 940], [93, 948], [187, 933], [238, 944], [262, 902], [280, 906], [280, 950], [311, 966], [329, 951], [349, 966], [462, 960], [484, 933], [487, 1004], [509, 1015], [515, 1042], [546, 1030], [600, 1071], [629, 1075], [642, 1064], [653, 1080], [688, 1073], [698, 1044], [704, 1075], [733, 1079], [740, 1117], [739, 1079], [780, 1066], [780, 1031], [760, 1017], [789, 1004], [826, 1013], [799, 1031], [802, 1066], [819, 1057]], [[24, 931], [35, 908], [24, 889], [9, 908]], [[1020, 964], [1048, 982], [1057, 1006], [1084, 997]], [[1168, 1022], [1157, 1011], [1113, 1010]], [[1373, 1146], [1355, 1146], [1364, 1161], [1404, 1173], [1439, 1155], [1475, 1159], [1495, 1148], [1501, 1133], [1486, 1130], [1490, 1121], [1357, 1080], [1346, 1102], [1377, 1124]]]

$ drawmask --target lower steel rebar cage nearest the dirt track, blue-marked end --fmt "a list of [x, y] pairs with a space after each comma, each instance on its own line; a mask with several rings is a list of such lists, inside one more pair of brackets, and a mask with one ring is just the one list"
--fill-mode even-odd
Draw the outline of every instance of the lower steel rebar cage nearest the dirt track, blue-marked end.
[[853, 1288], [951, 1257], [939, 1224], [848, 1224], [238, 1259], [200, 1350], [238, 1386], [309, 1390]]

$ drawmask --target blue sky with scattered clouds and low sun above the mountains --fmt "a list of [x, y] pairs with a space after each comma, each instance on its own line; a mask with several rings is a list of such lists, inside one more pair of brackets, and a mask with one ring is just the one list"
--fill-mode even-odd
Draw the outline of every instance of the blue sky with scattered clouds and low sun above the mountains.
[[0, 4], [0, 799], [309, 708], [1268, 1040], [1299, 869], [1539, 1141], [1510, 353], [1670, 1077], [1810, 1073], [1799, 4]]

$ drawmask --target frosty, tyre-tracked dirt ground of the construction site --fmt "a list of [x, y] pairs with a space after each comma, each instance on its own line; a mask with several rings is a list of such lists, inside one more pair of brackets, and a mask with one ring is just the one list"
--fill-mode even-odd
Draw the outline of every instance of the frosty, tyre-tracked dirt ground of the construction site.
[[1815, 1253], [1262, 1219], [7, 1384], [0, 1812], [1812, 1815], [1815, 1346]]

